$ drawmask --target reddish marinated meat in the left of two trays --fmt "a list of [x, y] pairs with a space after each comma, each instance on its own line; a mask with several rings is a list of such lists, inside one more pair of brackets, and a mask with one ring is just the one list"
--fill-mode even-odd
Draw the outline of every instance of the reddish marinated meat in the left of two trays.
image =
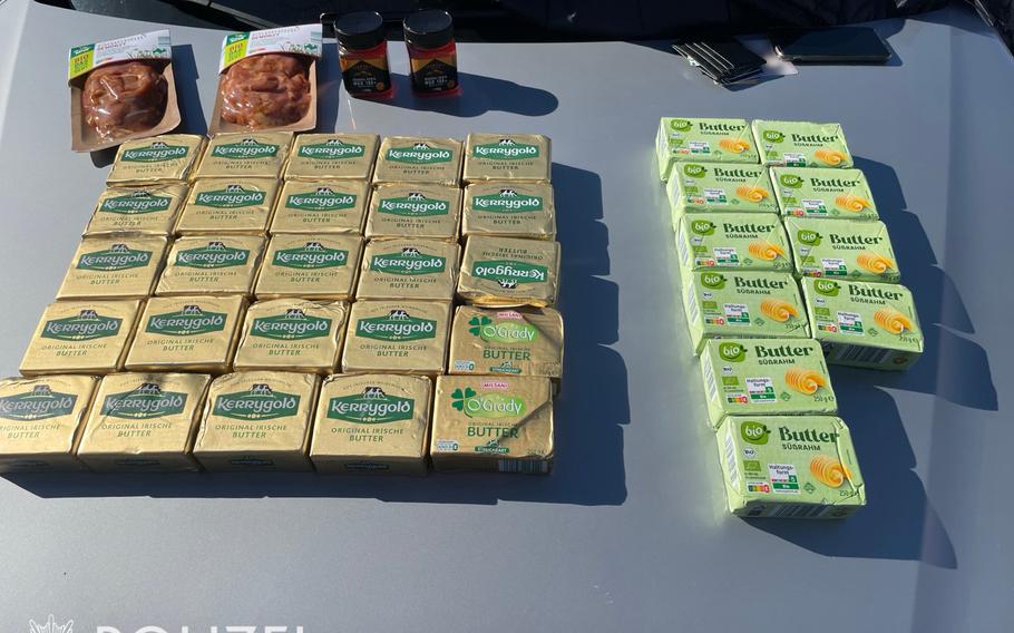
[[92, 70], [81, 91], [85, 121], [103, 138], [152, 129], [166, 111], [168, 85], [159, 65], [120, 61]]

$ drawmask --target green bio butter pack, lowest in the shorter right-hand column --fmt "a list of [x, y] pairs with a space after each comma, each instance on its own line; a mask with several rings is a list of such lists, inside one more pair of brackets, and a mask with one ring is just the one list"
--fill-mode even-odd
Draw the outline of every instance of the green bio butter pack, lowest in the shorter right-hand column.
[[829, 363], [908, 369], [923, 353], [919, 318], [904, 285], [803, 277], [802, 289]]

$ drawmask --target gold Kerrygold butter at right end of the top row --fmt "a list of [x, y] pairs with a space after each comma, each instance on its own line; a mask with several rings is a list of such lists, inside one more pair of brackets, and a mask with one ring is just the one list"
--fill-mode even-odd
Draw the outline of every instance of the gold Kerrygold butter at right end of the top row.
[[542, 134], [469, 134], [465, 182], [549, 182], [549, 138]]

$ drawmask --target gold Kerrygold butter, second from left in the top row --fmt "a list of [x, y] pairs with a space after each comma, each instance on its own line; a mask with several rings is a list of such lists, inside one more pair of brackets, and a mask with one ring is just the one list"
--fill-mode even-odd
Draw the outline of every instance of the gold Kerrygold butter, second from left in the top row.
[[262, 176], [277, 178], [289, 157], [291, 132], [216, 134], [204, 150], [198, 178]]

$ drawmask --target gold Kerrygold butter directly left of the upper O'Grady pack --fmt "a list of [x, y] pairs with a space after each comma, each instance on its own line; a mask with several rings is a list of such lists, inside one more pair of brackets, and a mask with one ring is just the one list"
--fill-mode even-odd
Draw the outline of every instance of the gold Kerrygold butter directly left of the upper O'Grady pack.
[[443, 373], [449, 332], [449, 302], [357, 301], [349, 316], [342, 371]]

